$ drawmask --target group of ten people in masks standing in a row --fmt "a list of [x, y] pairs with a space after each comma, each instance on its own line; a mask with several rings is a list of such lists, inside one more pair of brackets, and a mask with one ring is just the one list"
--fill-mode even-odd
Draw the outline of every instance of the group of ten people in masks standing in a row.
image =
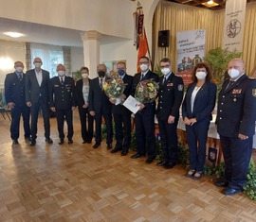
[[[103, 91], [107, 81], [106, 66], [99, 64], [98, 77], [89, 79], [87, 67], [81, 68], [82, 79], [75, 84], [72, 77], [65, 76], [63, 64], [57, 66], [58, 77], [49, 77], [49, 73], [41, 66], [40, 58], [33, 61], [34, 69], [24, 74], [21, 61], [14, 64], [15, 72], [7, 75], [5, 94], [11, 109], [10, 136], [13, 144], [18, 144], [20, 117], [23, 116], [25, 139], [30, 145], [36, 144], [38, 113], [42, 110], [46, 143], [52, 144], [50, 138], [49, 109], [56, 112], [60, 145], [64, 144], [64, 120], [67, 124], [68, 144], [73, 140], [72, 111], [79, 109], [81, 120], [82, 143], [91, 144], [95, 121], [95, 144], [101, 145], [102, 118], [106, 126], [106, 144], [111, 153], [121, 151], [127, 155], [131, 146], [131, 111], [123, 105], [115, 105]], [[177, 164], [177, 124], [180, 108], [186, 126], [187, 142], [190, 150], [190, 170], [186, 177], [201, 179], [203, 175], [208, 129], [212, 119], [212, 111], [216, 102], [217, 87], [211, 82], [211, 72], [207, 63], [200, 62], [192, 71], [192, 83], [184, 96], [184, 83], [181, 77], [172, 72], [171, 60], [160, 60], [162, 73], [158, 77], [150, 70], [147, 57], [139, 59], [141, 72], [134, 77], [127, 75], [126, 64], [117, 64], [119, 77], [125, 83], [125, 90], [119, 96], [124, 101], [129, 95], [135, 96], [137, 84], [146, 79], [153, 79], [159, 84], [157, 105], [155, 100], [140, 103], [135, 114], [135, 131], [137, 153], [132, 159], [147, 157], [146, 163], [152, 163], [156, 156], [155, 116], [157, 118], [163, 159], [158, 166], [166, 169]], [[216, 181], [217, 186], [226, 187], [225, 195], [234, 195], [242, 191], [247, 179], [247, 168], [252, 152], [252, 137], [255, 133], [256, 120], [256, 81], [245, 74], [245, 65], [241, 59], [233, 59], [228, 65], [229, 78], [224, 81], [218, 94], [217, 131], [223, 147], [226, 165], [225, 179]], [[29, 127], [31, 114], [31, 128]], [[113, 126], [115, 123], [116, 145], [113, 147]]]

